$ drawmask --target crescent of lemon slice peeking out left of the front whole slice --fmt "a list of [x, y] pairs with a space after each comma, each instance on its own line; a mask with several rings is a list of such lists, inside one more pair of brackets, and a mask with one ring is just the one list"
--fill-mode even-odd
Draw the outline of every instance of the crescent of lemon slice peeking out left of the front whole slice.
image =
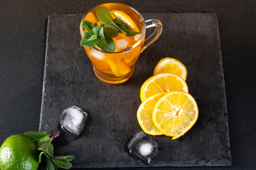
[[137, 111], [137, 119], [141, 126], [141, 129], [149, 135], [163, 135], [157, 127], [155, 127], [152, 121], [152, 112], [156, 105], [156, 102], [167, 92], [156, 93], [151, 97], [147, 98], [144, 102], [141, 103]]

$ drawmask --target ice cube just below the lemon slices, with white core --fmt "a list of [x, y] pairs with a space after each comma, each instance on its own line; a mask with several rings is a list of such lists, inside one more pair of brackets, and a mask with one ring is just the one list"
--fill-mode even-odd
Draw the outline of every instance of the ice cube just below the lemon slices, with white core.
[[150, 136], [141, 131], [133, 136], [128, 144], [128, 149], [130, 153], [133, 153], [142, 161], [150, 163], [151, 159], [155, 156], [158, 145]]

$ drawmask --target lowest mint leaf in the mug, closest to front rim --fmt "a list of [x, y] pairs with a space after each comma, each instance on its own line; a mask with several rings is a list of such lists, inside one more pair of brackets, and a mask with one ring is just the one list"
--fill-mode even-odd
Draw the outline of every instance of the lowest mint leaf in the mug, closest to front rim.
[[112, 39], [112, 37], [106, 33], [104, 35], [105, 35], [105, 39], [99, 40], [97, 43], [97, 47], [106, 52], [115, 51], [115, 42]]

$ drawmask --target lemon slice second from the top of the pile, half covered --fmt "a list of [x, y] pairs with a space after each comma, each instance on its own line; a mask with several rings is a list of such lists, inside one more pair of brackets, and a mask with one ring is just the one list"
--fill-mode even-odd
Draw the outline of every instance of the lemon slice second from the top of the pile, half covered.
[[148, 97], [160, 93], [171, 91], [188, 92], [186, 82], [179, 76], [169, 73], [160, 73], [151, 76], [141, 86], [141, 101], [144, 102]]

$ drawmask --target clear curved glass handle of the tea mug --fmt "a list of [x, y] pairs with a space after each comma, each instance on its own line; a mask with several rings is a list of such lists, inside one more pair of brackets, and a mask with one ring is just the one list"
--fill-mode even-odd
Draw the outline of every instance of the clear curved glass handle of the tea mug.
[[[156, 27], [156, 29], [153, 32], [153, 34], [151, 34], [144, 41], [144, 45], [141, 49], [141, 52], [144, 51], [148, 46], [150, 46], [151, 43], [155, 42], [159, 38], [159, 36], [161, 35], [161, 33], [163, 31], [162, 23], [158, 19], [149, 19], [149, 20], [145, 21], [145, 23], [147, 25], [146, 29], [151, 28], [151, 27]], [[147, 23], [151, 23], [151, 24], [148, 25]]]

